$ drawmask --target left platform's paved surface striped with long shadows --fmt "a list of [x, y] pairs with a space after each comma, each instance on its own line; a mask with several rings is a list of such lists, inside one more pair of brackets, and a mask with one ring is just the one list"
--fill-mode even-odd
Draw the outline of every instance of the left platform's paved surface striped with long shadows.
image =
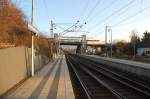
[[47, 64], [5, 99], [75, 99], [65, 57]]

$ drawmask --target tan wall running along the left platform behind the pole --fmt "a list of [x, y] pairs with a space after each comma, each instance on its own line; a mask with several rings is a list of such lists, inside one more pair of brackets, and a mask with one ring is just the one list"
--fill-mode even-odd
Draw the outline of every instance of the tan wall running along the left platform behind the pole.
[[[49, 60], [35, 55], [35, 70], [38, 71]], [[0, 95], [29, 77], [31, 71], [31, 49], [24, 47], [0, 50]]]

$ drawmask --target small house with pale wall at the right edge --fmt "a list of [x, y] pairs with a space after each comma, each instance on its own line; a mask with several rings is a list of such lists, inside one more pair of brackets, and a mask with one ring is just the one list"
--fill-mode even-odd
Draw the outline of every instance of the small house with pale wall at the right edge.
[[139, 48], [137, 49], [137, 54], [139, 56], [145, 55], [150, 56], [150, 40], [144, 40], [140, 43]]

